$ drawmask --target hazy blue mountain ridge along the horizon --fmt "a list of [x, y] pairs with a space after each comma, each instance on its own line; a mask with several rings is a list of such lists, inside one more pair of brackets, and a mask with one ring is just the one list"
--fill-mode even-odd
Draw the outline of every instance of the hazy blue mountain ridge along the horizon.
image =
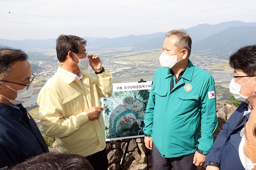
[[[256, 44], [256, 22], [229, 21], [218, 24], [198, 24], [186, 29], [192, 38], [192, 52], [205, 50], [230, 53], [241, 46]], [[119, 48], [132, 47], [132, 50], [160, 49], [165, 39], [165, 33], [127, 35], [116, 38], [100, 38], [84, 36], [87, 47]], [[30, 49], [55, 49], [56, 39], [46, 40], [6, 40], [0, 39], [0, 44], [15, 47], [25, 51]]]

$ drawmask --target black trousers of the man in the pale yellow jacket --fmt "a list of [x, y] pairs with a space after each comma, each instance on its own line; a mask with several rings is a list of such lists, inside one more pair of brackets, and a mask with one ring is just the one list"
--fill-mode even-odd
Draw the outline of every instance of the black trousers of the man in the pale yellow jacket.
[[86, 157], [91, 163], [94, 170], [107, 170], [108, 160], [107, 160], [107, 149], [103, 149], [100, 152], [96, 152], [92, 155]]

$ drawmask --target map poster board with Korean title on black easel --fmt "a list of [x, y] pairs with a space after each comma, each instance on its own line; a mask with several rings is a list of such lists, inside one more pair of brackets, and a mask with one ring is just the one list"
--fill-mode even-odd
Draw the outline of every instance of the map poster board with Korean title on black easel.
[[144, 113], [152, 81], [113, 84], [111, 97], [102, 98], [106, 141], [143, 137]]

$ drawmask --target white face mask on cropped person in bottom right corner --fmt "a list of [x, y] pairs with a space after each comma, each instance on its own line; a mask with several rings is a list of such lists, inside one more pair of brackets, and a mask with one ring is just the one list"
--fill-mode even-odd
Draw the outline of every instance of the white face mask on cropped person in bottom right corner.
[[238, 149], [238, 151], [239, 151], [239, 158], [240, 158], [241, 163], [244, 166], [244, 168], [246, 170], [251, 170], [251, 169], [254, 168], [254, 166], [256, 164], [252, 163], [252, 161], [245, 156], [244, 145], [245, 145], [245, 136], [242, 137], [242, 140], [241, 140], [240, 145], [239, 145], [239, 149]]

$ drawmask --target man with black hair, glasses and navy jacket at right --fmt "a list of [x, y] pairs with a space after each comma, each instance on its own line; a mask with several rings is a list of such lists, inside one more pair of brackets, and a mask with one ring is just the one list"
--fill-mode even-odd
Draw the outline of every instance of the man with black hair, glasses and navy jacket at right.
[[245, 170], [239, 145], [245, 140], [245, 124], [256, 107], [256, 45], [240, 48], [230, 56], [229, 65], [234, 68], [229, 90], [241, 104], [222, 126], [206, 157], [206, 170]]

